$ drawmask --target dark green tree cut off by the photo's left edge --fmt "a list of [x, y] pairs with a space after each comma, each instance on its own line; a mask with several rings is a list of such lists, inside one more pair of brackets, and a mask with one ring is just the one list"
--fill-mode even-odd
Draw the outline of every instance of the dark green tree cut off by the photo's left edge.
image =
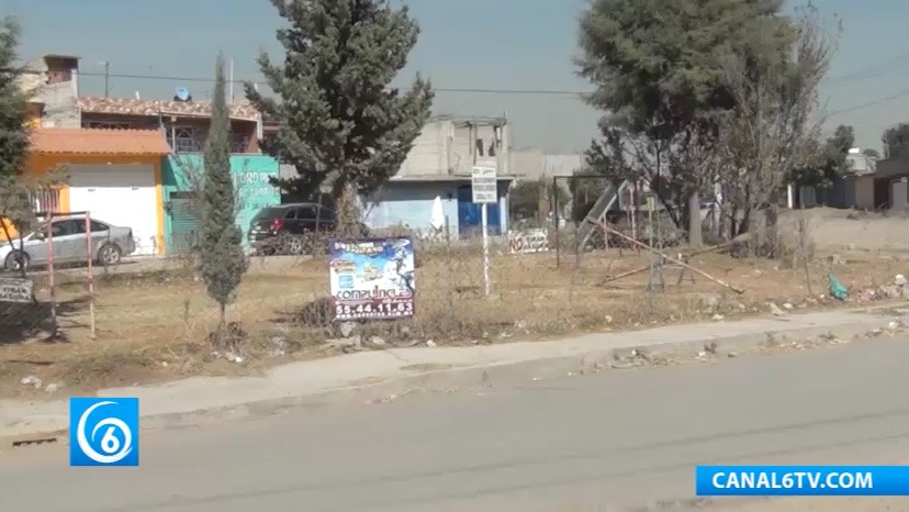
[[[34, 227], [37, 218], [32, 209], [31, 198], [65, 179], [63, 169], [48, 172], [41, 179], [25, 176], [25, 164], [31, 146], [29, 119], [29, 91], [24, 90], [21, 78], [23, 69], [16, 66], [20, 27], [12, 18], [0, 20], [0, 226], [10, 242], [10, 223], [19, 231], [19, 251], [22, 254], [22, 235]], [[5, 261], [0, 261], [2, 267]], [[19, 259], [19, 269], [24, 278], [25, 265]]]

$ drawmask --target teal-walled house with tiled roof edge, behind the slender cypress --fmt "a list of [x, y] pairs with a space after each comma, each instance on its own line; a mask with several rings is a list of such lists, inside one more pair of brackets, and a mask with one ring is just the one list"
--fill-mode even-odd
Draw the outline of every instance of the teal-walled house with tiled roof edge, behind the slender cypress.
[[[198, 233], [198, 194], [203, 171], [202, 152], [211, 122], [211, 103], [132, 98], [79, 98], [82, 126], [106, 130], [156, 129], [172, 148], [162, 163], [165, 244], [169, 254], [186, 252]], [[262, 208], [281, 202], [270, 178], [278, 177], [274, 158], [262, 155], [262, 122], [247, 104], [232, 104], [231, 170], [237, 196], [237, 225], [246, 232]], [[248, 241], [244, 237], [244, 243]]]

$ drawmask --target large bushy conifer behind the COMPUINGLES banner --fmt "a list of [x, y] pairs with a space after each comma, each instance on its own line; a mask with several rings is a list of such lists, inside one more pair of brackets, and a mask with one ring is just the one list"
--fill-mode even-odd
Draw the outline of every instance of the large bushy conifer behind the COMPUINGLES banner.
[[[385, 0], [271, 0], [290, 23], [278, 31], [283, 65], [258, 64], [277, 99], [247, 84], [246, 96], [279, 121], [265, 149], [293, 165], [285, 190], [332, 186], [339, 230], [359, 226], [358, 194], [395, 175], [429, 118], [433, 92], [419, 76], [406, 91], [389, 85], [405, 66], [419, 29], [406, 7]], [[354, 232], [354, 233], [351, 233]]]

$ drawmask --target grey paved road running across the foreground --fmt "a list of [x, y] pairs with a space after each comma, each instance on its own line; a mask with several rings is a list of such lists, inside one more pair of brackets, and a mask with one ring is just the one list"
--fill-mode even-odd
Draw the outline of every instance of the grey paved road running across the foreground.
[[131, 469], [69, 468], [63, 447], [33, 448], [0, 456], [0, 502], [29, 512], [590, 512], [687, 499], [697, 464], [906, 463], [907, 360], [909, 340], [877, 341], [294, 411], [143, 434]]

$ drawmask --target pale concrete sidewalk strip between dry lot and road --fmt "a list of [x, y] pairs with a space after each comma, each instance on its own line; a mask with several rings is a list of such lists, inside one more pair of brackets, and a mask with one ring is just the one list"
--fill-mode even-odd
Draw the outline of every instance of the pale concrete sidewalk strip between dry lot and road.
[[[896, 312], [893, 311], [893, 313]], [[887, 314], [886, 311], [882, 310], [876, 313], [879, 316], [875, 318], [873, 316], [875, 312], [871, 312], [871, 318], [863, 322], [764, 331], [733, 336], [712, 336], [697, 341], [649, 344], [644, 350], [649, 355], [654, 356], [666, 354], [697, 354], [704, 350], [706, 345], [716, 344], [718, 353], [733, 350], [744, 352], [761, 348], [762, 346], [770, 346], [773, 343], [808, 340], [818, 336], [829, 335], [838, 338], [853, 338], [868, 334], [875, 330], [886, 329], [895, 320], [901, 322], [904, 325], [909, 324], [909, 314], [893, 313]], [[785, 318], [781, 319], [781, 322], [785, 322]], [[599, 368], [608, 368], [609, 363], [616, 360], [622, 354], [630, 353], [633, 348], [632, 346], [613, 346], [537, 359], [512, 360], [483, 366], [449, 367], [415, 372], [407, 376], [390, 377], [380, 382], [261, 400], [240, 405], [200, 408], [186, 412], [149, 414], [142, 416], [142, 428], [162, 430], [217, 424], [232, 420], [279, 414], [289, 409], [322, 409], [330, 405], [384, 401], [414, 390], [448, 391], [457, 388], [493, 387], [526, 382], [529, 379], [536, 378], [563, 377], [572, 372], [585, 374]], [[60, 424], [59, 426], [63, 425]], [[2, 435], [0, 436], [0, 446], [22, 446], [43, 442], [64, 443], [67, 437], [68, 431], [66, 428], [36, 430], [29, 433]]]

